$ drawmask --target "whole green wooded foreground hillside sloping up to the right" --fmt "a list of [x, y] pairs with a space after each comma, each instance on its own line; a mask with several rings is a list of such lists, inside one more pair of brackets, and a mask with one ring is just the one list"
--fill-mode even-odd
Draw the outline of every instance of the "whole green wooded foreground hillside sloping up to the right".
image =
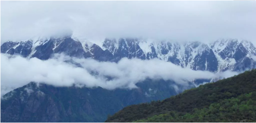
[[[237, 105], [233, 103], [234, 101], [237, 101]], [[230, 102], [232, 104], [229, 104]], [[255, 122], [255, 103], [256, 70], [254, 69], [215, 83], [201, 85], [163, 101], [128, 106], [109, 117], [105, 122], [191, 122], [191, 120], [193, 122], [237, 122], [238, 120]], [[217, 106], [218, 110], [221, 107], [228, 110], [217, 111], [214, 109]], [[202, 113], [202, 117], [196, 116], [198, 113]], [[223, 119], [213, 120], [211, 117]]]

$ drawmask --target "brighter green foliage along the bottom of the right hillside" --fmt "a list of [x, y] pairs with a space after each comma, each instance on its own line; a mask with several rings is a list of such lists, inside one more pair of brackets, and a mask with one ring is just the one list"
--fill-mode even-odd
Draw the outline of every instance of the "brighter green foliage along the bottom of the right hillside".
[[[251, 99], [250, 94], [240, 95], [237, 98], [230, 98], [220, 103], [212, 103], [208, 108], [193, 110], [193, 113], [182, 114], [171, 111], [167, 114], [155, 115], [148, 119], [137, 120], [136, 122], [238, 122], [240, 119], [248, 119], [247, 122], [255, 122], [256, 100]], [[256, 92], [254, 92], [254, 96]], [[245, 101], [240, 102], [239, 98]], [[224, 107], [225, 110], [224, 110]], [[239, 110], [237, 110], [239, 109]]]

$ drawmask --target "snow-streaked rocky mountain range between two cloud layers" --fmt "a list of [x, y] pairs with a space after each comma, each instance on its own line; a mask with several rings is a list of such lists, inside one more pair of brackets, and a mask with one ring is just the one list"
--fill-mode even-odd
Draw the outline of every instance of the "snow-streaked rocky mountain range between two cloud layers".
[[202, 71], [244, 71], [256, 68], [256, 47], [247, 40], [220, 39], [213, 43], [198, 41], [179, 43], [167, 40], [139, 38], [106, 38], [101, 43], [79, 40], [74, 36], [38, 38], [26, 41], [8, 41], [1, 46], [1, 53], [19, 54], [42, 60], [54, 53], [64, 53], [79, 58], [117, 62], [121, 58], [159, 58], [181, 67]]

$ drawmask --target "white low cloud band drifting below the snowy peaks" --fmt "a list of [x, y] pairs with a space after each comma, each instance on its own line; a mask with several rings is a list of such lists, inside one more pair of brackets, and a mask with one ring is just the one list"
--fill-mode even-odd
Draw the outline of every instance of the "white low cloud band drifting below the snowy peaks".
[[184, 80], [227, 78], [238, 74], [231, 71], [218, 74], [209, 71], [193, 71], [159, 59], [123, 58], [118, 63], [114, 63], [95, 61], [90, 58], [72, 58], [82, 65], [83, 68], [79, 68], [64, 62], [69, 59], [70, 57], [62, 54], [57, 54], [46, 61], [1, 54], [1, 96], [32, 81], [53, 86], [75, 84], [86, 87], [101, 86], [104, 89], [133, 89], [136, 88], [136, 83], [146, 78], [174, 80], [177, 84], [186, 85], [188, 83]]

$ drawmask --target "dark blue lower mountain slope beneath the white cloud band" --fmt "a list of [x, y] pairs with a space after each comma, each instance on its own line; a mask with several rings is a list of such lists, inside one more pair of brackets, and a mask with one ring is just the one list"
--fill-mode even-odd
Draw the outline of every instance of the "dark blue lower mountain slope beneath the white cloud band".
[[136, 84], [138, 89], [107, 90], [29, 83], [1, 98], [1, 122], [104, 122], [125, 106], [162, 100], [195, 87], [190, 83], [176, 92], [171, 84], [145, 80]]

